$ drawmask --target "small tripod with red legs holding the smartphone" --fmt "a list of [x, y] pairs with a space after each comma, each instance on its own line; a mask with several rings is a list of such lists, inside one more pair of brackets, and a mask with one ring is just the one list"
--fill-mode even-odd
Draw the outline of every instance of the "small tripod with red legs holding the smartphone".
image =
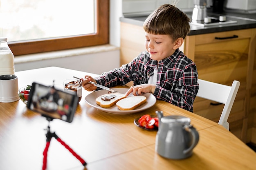
[[[50, 124], [50, 121], [52, 121], [52, 118], [49, 118], [47, 117], [46, 118], [48, 121], [49, 121], [49, 124]], [[62, 141], [57, 135], [55, 132], [50, 132], [50, 125], [47, 126], [47, 133], [46, 133], [46, 145], [45, 145], [45, 150], [43, 151], [43, 167], [42, 167], [42, 170], [45, 170], [46, 169], [46, 165], [47, 165], [47, 152], [48, 152], [48, 149], [49, 149], [49, 145], [50, 145], [50, 142], [51, 142], [51, 139], [52, 137], [54, 137], [59, 143], [61, 143], [67, 150], [69, 150], [73, 155], [74, 157], [76, 157], [76, 159], [78, 159], [82, 164], [83, 166], [86, 166], [86, 162], [78, 155], [76, 154], [76, 152], [74, 152], [74, 150], [72, 150], [64, 141]]]

